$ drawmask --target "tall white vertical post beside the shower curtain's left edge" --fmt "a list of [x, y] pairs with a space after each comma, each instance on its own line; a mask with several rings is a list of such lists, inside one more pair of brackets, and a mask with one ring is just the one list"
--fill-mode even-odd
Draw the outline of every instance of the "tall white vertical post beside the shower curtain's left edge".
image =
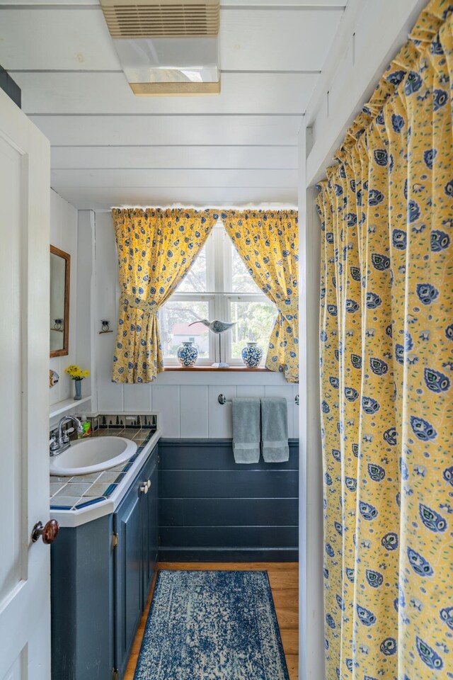
[[314, 190], [306, 191], [306, 146], [299, 132], [300, 382], [299, 392], [299, 677], [321, 680], [324, 669], [323, 489], [319, 401], [321, 225]]

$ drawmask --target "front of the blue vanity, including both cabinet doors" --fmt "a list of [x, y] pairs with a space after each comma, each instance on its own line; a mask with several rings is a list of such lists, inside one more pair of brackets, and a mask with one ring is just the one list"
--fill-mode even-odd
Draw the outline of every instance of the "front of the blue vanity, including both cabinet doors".
[[120, 679], [125, 674], [156, 567], [158, 547], [156, 478], [157, 447], [113, 516], [113, 531], [117, 535], [114, 558], [115, 671]]

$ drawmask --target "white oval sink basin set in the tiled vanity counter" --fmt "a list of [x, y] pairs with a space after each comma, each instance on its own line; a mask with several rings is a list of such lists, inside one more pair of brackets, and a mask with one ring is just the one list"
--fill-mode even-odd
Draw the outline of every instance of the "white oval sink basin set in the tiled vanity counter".
[[137, 450], [137, 444], [124, 437], [79, 439], [59, 455], [50, 458], [50, 474], [59, 477], [89, 475], [125, 463]]

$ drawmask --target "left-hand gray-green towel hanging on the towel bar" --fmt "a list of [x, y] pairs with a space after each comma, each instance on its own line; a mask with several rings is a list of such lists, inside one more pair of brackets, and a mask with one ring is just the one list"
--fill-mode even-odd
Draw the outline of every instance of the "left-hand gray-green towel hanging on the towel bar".
[[260, 400], [232, 400], [233, 453], [236, 463], [258, 463], [260, 460]]

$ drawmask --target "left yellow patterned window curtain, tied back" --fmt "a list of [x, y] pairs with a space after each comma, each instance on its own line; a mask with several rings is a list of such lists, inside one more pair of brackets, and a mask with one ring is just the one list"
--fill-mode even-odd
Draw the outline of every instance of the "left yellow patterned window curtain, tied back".
[[120, 307], [113, 382], [151, 382], [164, 370], [158, 314], [205, 244], [218, 213], [113, 210]]

